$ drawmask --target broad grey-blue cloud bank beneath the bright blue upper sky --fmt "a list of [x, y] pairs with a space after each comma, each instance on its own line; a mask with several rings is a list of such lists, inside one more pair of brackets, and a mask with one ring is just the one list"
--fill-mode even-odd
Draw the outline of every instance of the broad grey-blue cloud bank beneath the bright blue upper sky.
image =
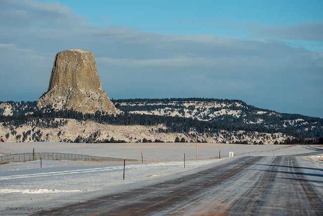
[[[319, 51], [265, 37], [242, 40], [103, 28], [86, 24], [66, 6], [30, 0], [0, 1], [0, 20], [7, 21], [0, 22], [0, 77], [6, 80], [0, 85], [0, 100], [38, 99], [47, 89], [56, 53], [80, 48], [94, 53], [103, 89], [109, 88], [114, 98], [200, 96], [263, 100], [269, 106], [284, 91], [284, 97], [297, 98], [286, 104], [278, 100], [284, 107], [300, 107], [307, 115], [312, 109], [307, 104], [323, 109], [317, 102], [323, 101]], [[299, 86], [311, 88], [302, 88], [300, 95]]]

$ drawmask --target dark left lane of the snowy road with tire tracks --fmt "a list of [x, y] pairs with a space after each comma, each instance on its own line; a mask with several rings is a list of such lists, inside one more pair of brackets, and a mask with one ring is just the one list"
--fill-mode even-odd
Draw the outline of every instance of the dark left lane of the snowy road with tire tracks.
[[[261, 156], [245, 156], [230, 161], [224, 166], [216, 166], [147, 188], [104, 196], [57, 209], [37, 212], [33, 215], [169, 214], [184, 204], [192, 203], [194, 205], [194, 201], [198, 199], [197, 195], [199, 193], [229, 180], [261, 158]], [[198, 205], [199, 203], [195, 204]]]

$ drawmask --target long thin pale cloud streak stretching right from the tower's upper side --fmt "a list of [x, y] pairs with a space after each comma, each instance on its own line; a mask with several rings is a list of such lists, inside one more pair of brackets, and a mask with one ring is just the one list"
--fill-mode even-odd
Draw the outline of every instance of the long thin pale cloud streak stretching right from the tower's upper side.
[[[285, 58], [264, 58], [264, 57], [173, 57], [163, 59], [117, 59], [109, 57], [99, 57], [96, 59], [98, 63], [104, 63], [107, 65], [118, 65], [125, 67], [134, 66], [167, 66], [167, 67], [214, 67], [214, 68], [231, 68], [239, 67], [240, 69], [250, 68], [306, 68], [309, 67], [306, 61], [296, 61], [298, 57], [285, 57]], [[317, 67], [322, 67], [322, 60], [320, 53], [317, 55], [304, 55], [303, 58], [307, 58], [308, 61], [316, 63]], [[251, 71], [250, 71], [251, 72]]]

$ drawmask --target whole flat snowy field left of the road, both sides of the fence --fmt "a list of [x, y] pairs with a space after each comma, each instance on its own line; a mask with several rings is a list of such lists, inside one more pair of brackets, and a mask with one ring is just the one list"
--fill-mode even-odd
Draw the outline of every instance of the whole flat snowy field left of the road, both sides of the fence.
[[[241, 155], [278, 156], [316, 152], [322, 146], [237, 145], [198, 143], [1, 143], [0, 153], [32, 152], [77, 153], [95, 156], [132, 158], [138, 163], [123, 164], [94, 161], [40, 160], [0, 166], [0, 215], [21, 215], [85, 201], [128, 189], [146, 187], [198, 171], [225, 165]], [[222, 158], [219, 156], [221, 149]], [[144, 163], [141, 163], [141, 151]], [[229, 151], [235, 156], [228, 157]], [[186, 164], [184, 168], [184, 153]], [[226, 156], [226, 157], [225, 157]], [[306, 166], [322, 170], [318, 155], [304, 156]], [[304, 162], [304, 163], [305, 163]], [[246, 180], [247, 181], [247, 180]], [[8, 208], [23, 208], [10, 210]], [[29, 210], [28, 210], [29, 209]]]

